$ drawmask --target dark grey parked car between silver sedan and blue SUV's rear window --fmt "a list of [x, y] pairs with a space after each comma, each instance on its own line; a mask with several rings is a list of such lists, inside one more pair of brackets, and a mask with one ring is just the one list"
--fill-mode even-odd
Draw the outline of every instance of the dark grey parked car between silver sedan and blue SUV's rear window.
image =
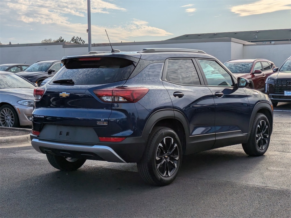
[[17, 74], [28, 81], [39, 85], [46, 78], [54, 76], [62, 66], [63, 64], [60, 60], [38, 61], [26, 68], [23, 72]]

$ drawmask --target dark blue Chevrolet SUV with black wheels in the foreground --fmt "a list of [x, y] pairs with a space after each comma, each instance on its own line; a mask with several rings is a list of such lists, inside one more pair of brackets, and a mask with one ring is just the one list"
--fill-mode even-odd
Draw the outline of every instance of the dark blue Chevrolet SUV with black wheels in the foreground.
[[31, 132], [56, 169], [136, 162], [146, 182], [167, 185], [183, 155], [234, 144], [251, 156], [268, 149], [270, 99], [203, 51], [92, 52], [62, 62], [34, 91]]

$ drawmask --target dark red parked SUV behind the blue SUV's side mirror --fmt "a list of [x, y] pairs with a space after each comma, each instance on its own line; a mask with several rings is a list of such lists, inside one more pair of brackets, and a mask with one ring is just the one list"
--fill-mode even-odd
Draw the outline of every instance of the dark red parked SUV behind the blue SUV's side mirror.
[[265, 82], [276, 66], [266, 59], [228, 60], [224, 65], [236, 76], [249, 80], [251, 89], [264, 91]]

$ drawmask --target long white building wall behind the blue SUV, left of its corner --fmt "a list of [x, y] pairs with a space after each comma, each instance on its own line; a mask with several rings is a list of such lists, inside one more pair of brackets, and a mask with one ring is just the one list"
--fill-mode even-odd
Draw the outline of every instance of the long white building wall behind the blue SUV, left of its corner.
[[[196, 42], [196, 43], [116, 43], [114, 49], [120, 51], [141, 51], [144, 48], [184, 48], [198, 49], [218, 58], [221, 62], [231, 59], [231, 46], [236, 42]], [[92, 51], [111, 51], [110, 45], [93, 46]], [[63, 43], [49, 43], [41, 45], [11, 45], [0, 47], [0, 64], [24, 63], [33, 64], [38, 60], [61, 60], [64, 56], [83, 55], [88, 53], [84, 45], [64, 45]]]

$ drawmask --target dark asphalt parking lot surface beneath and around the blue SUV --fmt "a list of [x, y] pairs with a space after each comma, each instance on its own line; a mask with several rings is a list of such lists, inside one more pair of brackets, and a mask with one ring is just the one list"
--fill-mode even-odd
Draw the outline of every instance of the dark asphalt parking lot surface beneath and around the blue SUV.
[[136, 164], [49, 165], [28, 144], [0, 149], [0, 217], [291, 217], [291, 105], [274, 111], [267, 153], [241, 145], [185, 156], [168, 186], [145, 184]]

